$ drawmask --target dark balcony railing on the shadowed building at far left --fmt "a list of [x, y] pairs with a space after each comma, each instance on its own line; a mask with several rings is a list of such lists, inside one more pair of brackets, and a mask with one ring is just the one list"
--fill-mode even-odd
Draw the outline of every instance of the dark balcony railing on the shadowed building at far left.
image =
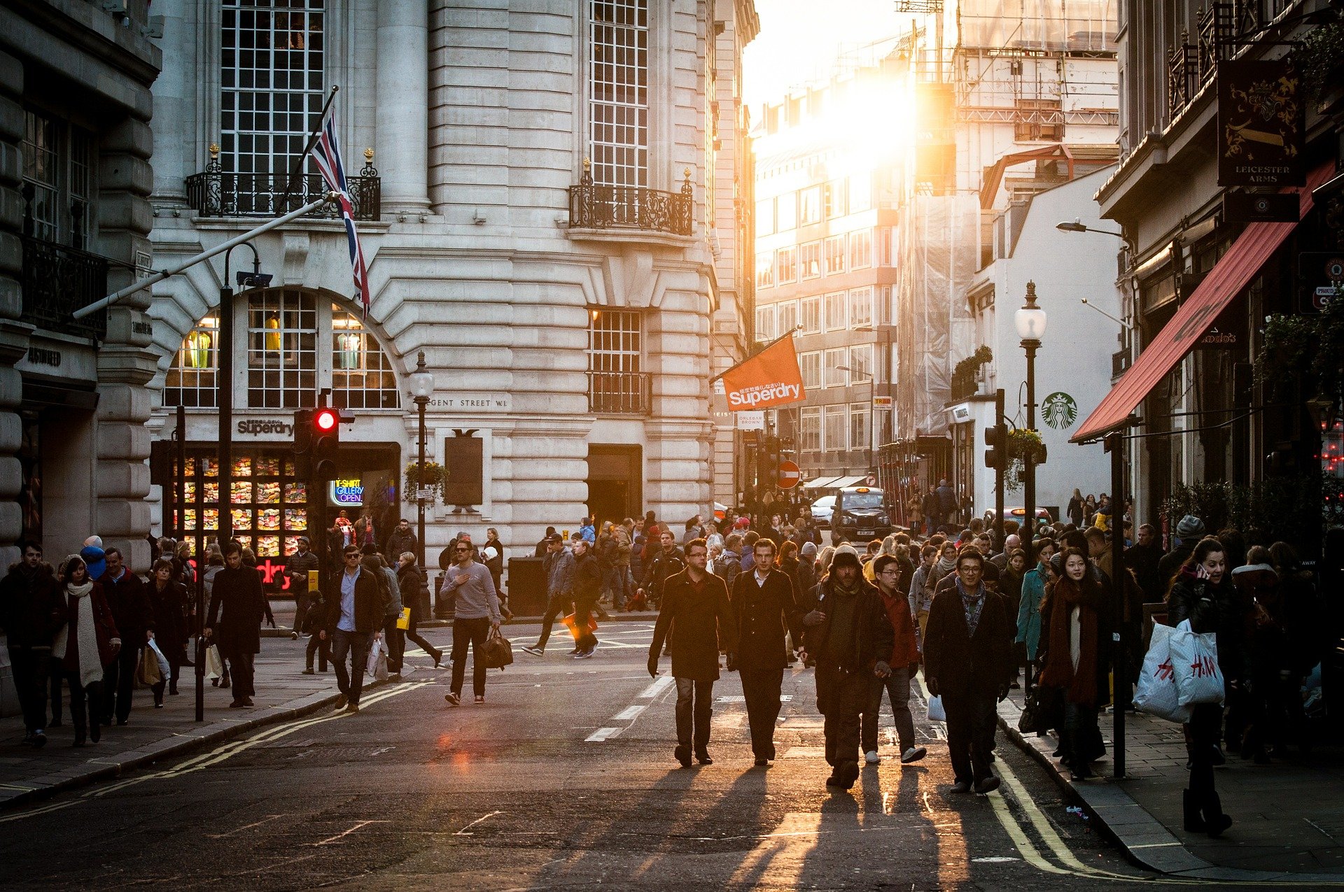
[[52, 332], [108, 336], [108, 312], [70, 317], [108, 296], [108, 261], [31, 235], [23, 238], [23, 321]]

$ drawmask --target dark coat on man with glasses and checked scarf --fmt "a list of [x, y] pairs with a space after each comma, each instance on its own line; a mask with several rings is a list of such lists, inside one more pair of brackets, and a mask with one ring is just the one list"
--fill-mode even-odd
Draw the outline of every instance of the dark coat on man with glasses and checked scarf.
[[950, 697], [997, 696], [1012, 680], [1013, 627], [1004, 614], [1003, 599], [985, 592], [976, 634], [966, 627], [961, 592], [934, 595], [925, 627], [925, 678], [930, 690]]

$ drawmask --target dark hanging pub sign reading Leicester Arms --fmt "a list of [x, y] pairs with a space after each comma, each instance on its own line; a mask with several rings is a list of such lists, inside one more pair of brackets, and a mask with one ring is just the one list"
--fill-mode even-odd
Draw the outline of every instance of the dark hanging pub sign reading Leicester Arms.
[[1219, 62], [1218, 184], [1302, 185], [1304, 102], [1286, 56]]

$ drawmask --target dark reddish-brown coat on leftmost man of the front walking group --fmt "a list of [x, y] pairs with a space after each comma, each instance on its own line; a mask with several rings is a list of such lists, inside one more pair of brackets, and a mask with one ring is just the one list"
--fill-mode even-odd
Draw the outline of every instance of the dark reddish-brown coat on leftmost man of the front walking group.
[[[728, 590], [722, 579], [706, 572], [702, 588], [696, 591], [684, 571], [668, 576], [663, 586], [659, 621], [653, 626], [653, 642], [649, 645], [650, 664], [663, 653], [663, 642], [669, 634], [675, 677], [718, 680], [719, 648], [731, 653], [738, 641]], [[782, 654], [781, 650], [781, 660]]]

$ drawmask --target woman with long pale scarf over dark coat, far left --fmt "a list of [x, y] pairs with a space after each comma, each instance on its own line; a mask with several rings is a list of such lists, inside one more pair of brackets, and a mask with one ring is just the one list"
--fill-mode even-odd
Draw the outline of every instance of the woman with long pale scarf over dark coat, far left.
[[98, 716], [102, 715], [102, 672], [121, 650], [121, 635], [117, 634], [108, 599], [102, 595], [102, 583], [89, 578], [83, 558], [66, 558], [60, 579], [70, 619], [51, 642], [51, 661], [52, 669], [70, 682], [74, 746], [82, 747], [86, 733], [94, 743], [101, 736]]

